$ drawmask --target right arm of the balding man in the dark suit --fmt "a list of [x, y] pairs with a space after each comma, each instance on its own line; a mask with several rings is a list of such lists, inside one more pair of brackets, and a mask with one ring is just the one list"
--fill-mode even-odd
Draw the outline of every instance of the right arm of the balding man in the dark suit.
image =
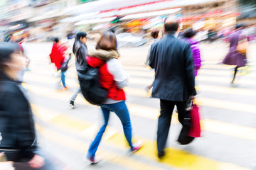
[[186, 45], [183, 54], [185, 57], [186, 86], [188, 88], [188, 95], [196, 96], [195, 76], [193, 71], [193, 60], [190, 45]]

